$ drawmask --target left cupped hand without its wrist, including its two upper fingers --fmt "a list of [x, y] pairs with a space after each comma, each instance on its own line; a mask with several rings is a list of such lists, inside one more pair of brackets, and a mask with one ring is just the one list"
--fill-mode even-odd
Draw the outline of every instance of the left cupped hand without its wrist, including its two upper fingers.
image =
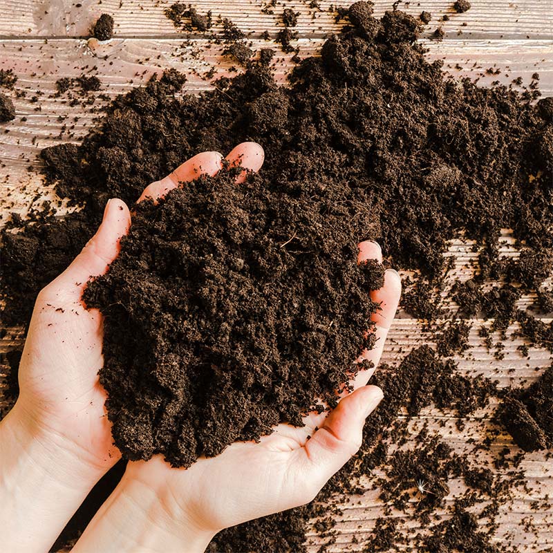
[[[247, 157], [250, 154], [252, 159]], [[227, 159], [234, 165], [243, 160], [255, 168], [263, 162], [263, 150], [256, 144], [240, 144]], [[149, 185], [140, 200], [165, 195], [179, 182], [214, 175], [221, 167], [220, 153], [199, 153]], [[104, 407], [106, 392], [97, 375], [103, 364], [103, 318], [98, 310], [87, 310], [81, 298], [86, 282], [104, 274], [118, 255], [120, 238], [130, 225], [125, 203], [109, 200], [95, 236], [39, 293], [19, 366], [21, 392], [15, 412], [35, 431], [55, 437], [57, 447], [66, 447], [102, 474], [120, 458], [120, 452], [113, 445]]]

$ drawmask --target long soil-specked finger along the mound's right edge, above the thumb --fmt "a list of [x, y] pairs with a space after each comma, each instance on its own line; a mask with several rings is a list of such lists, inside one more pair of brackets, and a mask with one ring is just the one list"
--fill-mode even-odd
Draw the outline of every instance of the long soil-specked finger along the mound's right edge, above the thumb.
[[375, 368], [382, 356], [382, 350], [384, 350], [388, 330], [390, 330], [395, 312], [397, 311], [397, 304], [400, 303], [401, 293], [402, 280], [400, 275], [393, 269], [386, 270], [384, 272], [384, 285], [382, 288], [371, 292], [371, 300], [380, 304], [380, 309], [371, 317], [371, 320], [375, 324], [375, 346], [371, 350], [363, 350], [357, 359], [357, 362], [369, 361], [373, 366], [366, 371], [359, 371], [355, 375], [353, 382], [350, 383], [354, 389], [364, 386], [375, 372]]

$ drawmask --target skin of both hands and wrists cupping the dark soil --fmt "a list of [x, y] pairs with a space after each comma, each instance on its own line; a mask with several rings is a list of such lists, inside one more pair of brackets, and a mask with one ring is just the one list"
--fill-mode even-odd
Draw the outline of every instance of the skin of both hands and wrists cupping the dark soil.
[[[263, 150], [246, 142], [227, 160], [257, 171]], [[216, 174], [222, 165], [221, 154], [200, 153], [149, 185], [139, 201], [161, 198], [200, 174]], [[10, 552], [46, 550], [120, 458], [97, 377], [102, 316], [86, 310], [81, 297], [91, 275], [104, 274], [115, 259], [130, 224], [128, 207], [110, 200], [97, 234], [37, 297], [19, 368], [19, 399], [0, 423], [0, 521], [3, 547]], [[376, 243], [359, 245], [359, 261], [364, 259], [382, 261]], [[384, 286], [371, 294], [382, 310], [373, 318], [376, 347], [362, 357], [374, 366], [400, 290], [399, 276], [388, 270]], [[307, 503], [359, 448], [364, 420], [382, 399], [379, 388], [365, 386], [371, 374], [360, 371], [352, 382], [355, 391], [330, 414], [308, 415], [306, 427], [279, 424], [261, 442], [232, 444], [189, 469], [173, 469], [160, 456], [130, 462], [74, 551], [203, 551], [225, 527]]]

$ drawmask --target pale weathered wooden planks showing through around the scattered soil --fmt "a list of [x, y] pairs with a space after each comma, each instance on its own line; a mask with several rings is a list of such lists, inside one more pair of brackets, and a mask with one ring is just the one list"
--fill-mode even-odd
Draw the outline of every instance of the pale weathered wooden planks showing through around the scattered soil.
[[[201, 35], [192, 35], [191, 41], [183, 44], [187, 34], [176, 30], [163, 15], [164, 8], [171, 2], [102, 0], [99, 3], [97, 0], [81, 0], [81, 8], [76, 8], [75, 3], [68, 0], [0, 0], [0, 68], [13, 68], [19, 77], [17, 90], [26, 91], [26, 97], [14, 98], [17, 118], [3, 125], [0, 133], [0, 206], [3, 221], [10, 211], [24, 214], [35, 194], [39, 193], [41, 199], [52, 194], [42, 183], [37, 151], [59, 140], [78, 141], [93, 124], [95, 114], [90, 107], [70, 107], [63, 97], [53, 97], [56, 79], [81, 75], [87, 71], [83, 70], [85, 66], [90, 70], [95, 67], [93, 73], [102, 81], [100, 93], [113, 97], [144, 82], [162, 68], [175, 67], [189, 75], [187, 91], [196, 92], [209, 88], [209, 82], [198, 75], [216, 66], [216, 76], [221, 76], [231, 65], [221, 58], [219, 48], [203, 51], [205, 39]], [[377, 0], [377, 15], [390, 8], [391, 3], [392, 0]], [[483, 84], [490, 84], [495, 79], [509, 83], [518, 76], [529, 84], [531, 75], [537, 71], [541, 76], [541, 91], [544, 95], [553, 95], [553, 0], [473, 0], [473, 8], [463, 15], [453, 12], [452, 3], [452, 0], [421, 0], [412, 1], [407, 7], [404, 3], [400, 4], [400, 8], [414, 15], [423, 9], [431, 12], [433, 21], [428, 26], [429, 32], [438, 26], [438, 17], [445, 13], [451, 16], [451, 20], [444, 24], [446, 39], [443, 42], [426, 40], [430, 48], [429, 57], [443, 58], [445, 67], [449, 67], [454, 75], [477, 77], [489, 67], [502, 70], [500, 75], [482, 77]], [[303, 57], [317, 53], [324, 36], [339, 28], [334, 14], [328, 11], [331, 2], [321, 1], [321, 10], [309, 9], [306, 7], [308, 4], [308, 1], [301, 0], [279, 3], [274, 8], [274, 15], [261, 15], [260, 8], [265, 5], [263, 1], [201, 0], [196, 1], [194, 6], [200, 12], [210, 8], [213, 10], [215, 30], [220, 27], [217, 21], [218, 15], [221, 15], [232, 19], [245, 32], [251, 32], [253, 48], [270, 45], [261, 40], [260, 33], [269, 30], [272, 36], [276, 35], [281, 27], [278, 15], [283, 7], [293, 7], [301, 12], [297, 26], [300, 38], [296, 44]], [[348, 1], [339, 4], [347, 5]], [[87, 41], [84, 37], [88, 29], [102, 12], [115, 17], [115, 38], [106, 44]], [[462, 25], [464, 22], [467, 26]], [[457, 64], [463, 69], [456, 68]], [[281, 81], [290, 66], [290, 55], [279, 55], [276, 73]], [[37, 93], [38, 101], [34, 102], [32, 97]], [[100, 104], [102, 100], [98, 99], [95, 105]], [[66, 120], [59, 120], [60, 116], [67, 116]], [[26, 122], [21, 121], [23, 117]], [[75, 117], [77, 122], [73, 121]], [[64, 124], [74, 125], [71, 135], [67, 129], [63, 131]], [[29, 167], [32, 169], [29, 170]], [[507, 231], [504, 240], [504, 254], [517, 255], [514, 247], [509, 245], [512, 239]], [[468, 278], [470, 272], [466, 264], [474, 256], [471, 244], [456, 241], [448, 255], [454, 256], [456, 261], [452, 275]], [[530, 300], [523, 297], [521, 306], [527, 305]], [[532, 382], [541, 369], [550, 366], [550, 354], [538, 348], [531, 348], [529, 359], [522, 358], [516, 351], [516, 341], [505, 342], [505, 359], [499, 362], [494, 358], [493, 351], [488, 352], [477, 337], [482, 321], [473, 322], [473, 347], [464, 358], [458, 359], [459, 371], [498, 379], [501, 386], [516, 386], [523, 380]], [[0, 341], [1, 350], [21, 343], [21, 329], [10, 330], [12, 332]], [[389, 335], [384, 360], [397, 364], [411, 348], [429, 341], [430, 337], [422, 332], [418, 321], [400, 314]], [[3, 402], [2, 385], [0, 375], [0, 405]], [[491, 424], [488, 419], [493, 409], [492, 404], [475, 413], [467, 420], [463, 431], [458, 431], [453, 417], [435, 409], [424, 409], [420, 418], [411, 422], [411, 428], [414, 431], [422, 422], [428, 421], [431, 428], [440, 429], [443, 440], [456, 451], [469, 451], [471, 446], [467, 440], [485, 435]], [[487, 466], [494, 451], [499, 451], [505, 444], [512, 444], [509, 436], [500, 435], [491, 453], [479, 453], [480, 465]], [[496, 543], [512, 544], [521, 551], [553, 550], [553, 514], [547, 509], [538, 513], [530, 510], [533, 501], [543, 499], [547, 494], [553, 496], [551, 465], [550, 460], [545, 460], [544, 452], [525, 456], [521, 469], [526, 471], [528, 487], [517, 488], [513, 500], [500, 507], [499, 525], [494, 534]], [[451, 505], [463, 489], [460, 481], [450, 482], [450, 487], [451, 494], [444, 507]], [[362, 550], [363, 538], [370, 536], [373, 521], [382, 514], [378, 493], [378, 489], [368, 486], [363, 496], [352, 497], [346, 502], [344, 514], [337, 525], [337, 543], [331, 550]], [[528, 532], [523, 529], [522, 521], [530, 513], [534, 529]], [[400, 513], [393, 516], [400, 517]], [[409, 517], [403, 518], [405, 520], [400, 523], [400, 529], [418, 529]], [[485, 521], [480, 523], [484, 525]], [[359, 540], [359, 544], [353, 543], [354, 538]], [[317, 551], [317, 547], [310, 546], [313, 552]]]

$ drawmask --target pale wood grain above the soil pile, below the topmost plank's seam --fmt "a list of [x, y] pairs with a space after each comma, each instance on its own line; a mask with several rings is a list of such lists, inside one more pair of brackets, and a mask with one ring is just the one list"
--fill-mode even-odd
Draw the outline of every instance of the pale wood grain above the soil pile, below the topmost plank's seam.
[[[105, 100], [132, 86], [144, 83], [163, 69], [174, 67], [188, 75], [186, 90], [207, 90], [212, 85], [205, 74], [216, 67], [214, 78], [229, 75], [232, 60], [221, 55], [222, 46], [203, 50], [204, 41], [183, 46], [180, 39], [113, 39], [109, 44], [88, 44], [79, 39], [13, 39], [0, 41], [0, 66], [12, 68], [19, 77], [16, 90], [24, 97], [9, 93], [15, 102], [17, 117], [3, 125], [0, 135], [0, 212], [5, 220], [10, 211], [24, 214], [30, 199], [36, 196], [41, 180], [36, 171], [39, 149], [78, 140], [91, 128], [95, 109]], [[322, 39], [301, 39], [301, 57], [317, 55]], [[522, 77], [525, 86], [532, 75], [540, 74], [543, 95], [553, 95], [553, 41], [465, 41], [451, 39], [427, 41], [429, 59], [443, 59], [452, 75], [479, 77], [482, 85], [498, 80], [509, 84]], [[252, 48], [275, 46], [264, 40], [252, 41]], [[285, 82], [292, 67], [291, 55], [281, 52], [274, 62], [275, 77]], [[475, 65], [476, 64], [476, 65]], [[488, 75], [488, 68], [500, 68], [500, 75]], [[102, 81], [96, 102], [69, 106], [67, 95], [56, 96], [55, 82], [60, 77], [83, 73], [98, 75]], [[160, 176], [161, 177], [161, 176]]]

